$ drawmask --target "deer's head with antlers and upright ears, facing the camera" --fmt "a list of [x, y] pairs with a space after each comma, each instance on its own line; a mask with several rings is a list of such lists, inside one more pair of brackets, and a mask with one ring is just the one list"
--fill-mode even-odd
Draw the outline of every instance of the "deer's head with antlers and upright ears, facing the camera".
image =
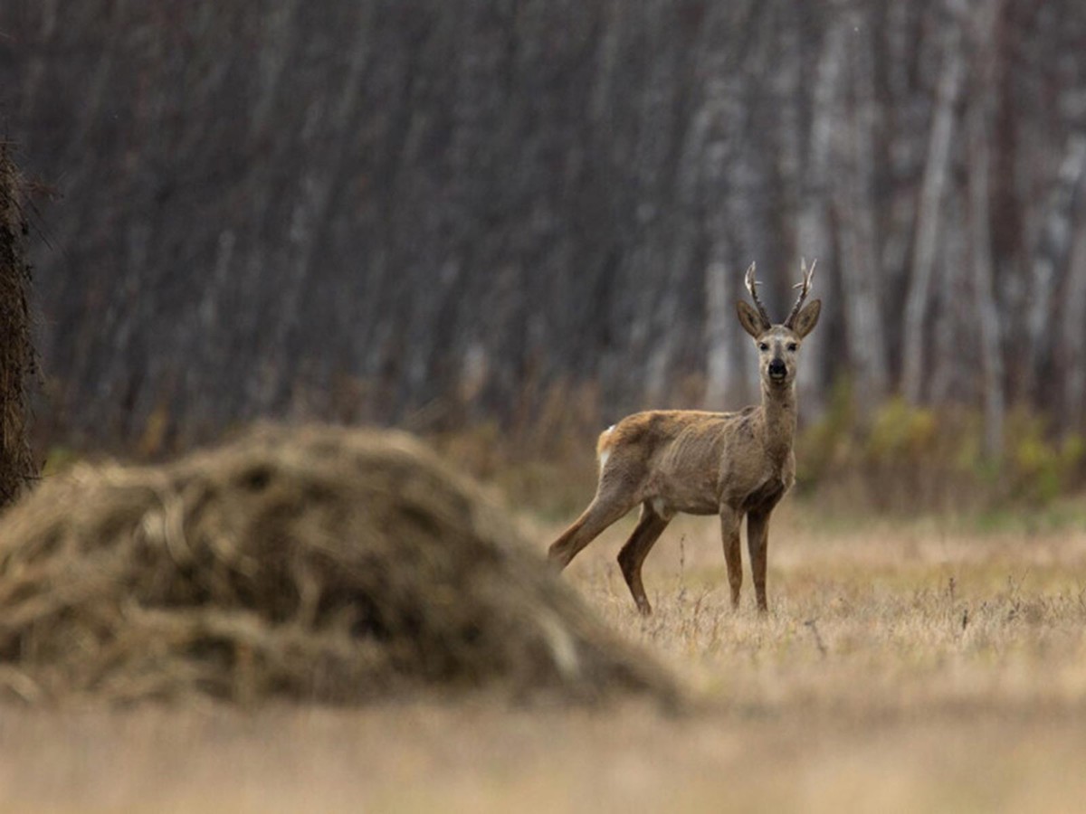
[[811, 277], [815, 274], [815, 263], [810, 268], [806, 262], [800, 262], [803, 280], [796, 284], [799, 289], [799, 297], [792, 306], [792, 313], [781, 325], [773, 325], [766, 307], [758, 298], [758, 281], [754, 277], [755, 264], [746, 272], [746, 287], [754, 300], [755, 307], [740, 300], [735, 303], [738, 310], [740, 325], [743, 330], [754, 336], [758, 346], [758, 372], [763, 383], [771, 386], [787, 386], [796, 379], [796, 363], [798, 361], [799, 346], [804, 338], [815, 330], [818, 325], [818, 316], [822, 310], [822, 301], [816, 300], [804, 305], [811, 287]]

